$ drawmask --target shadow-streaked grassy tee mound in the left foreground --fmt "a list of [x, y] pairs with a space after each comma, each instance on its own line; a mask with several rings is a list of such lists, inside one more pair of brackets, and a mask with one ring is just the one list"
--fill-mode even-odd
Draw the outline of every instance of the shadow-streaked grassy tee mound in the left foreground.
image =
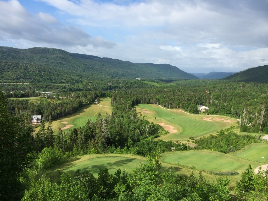
[[137, 155], [125, 154], [92, 154], [73, 158], [70, 162], [53, 169], [51, 175], [57, 176], [57, 170], [60, 172], [69, 172], [74, 175], [76, 170], [88, 170], [94, 176], [98, 176], [99, 169], [108, 168], [109, 173], [113, 174], [118, 168], [121, 171], [132, 172], [140, 163], [145, 163], [146, 158]]

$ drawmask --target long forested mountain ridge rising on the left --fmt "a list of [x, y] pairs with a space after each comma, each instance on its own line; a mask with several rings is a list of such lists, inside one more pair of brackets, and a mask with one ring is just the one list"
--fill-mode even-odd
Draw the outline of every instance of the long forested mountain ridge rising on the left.
[[1, 82], [73, 83], [87, 79], [197, 77], [169, 64], [141, 64], [60, 49], [0, 47]]

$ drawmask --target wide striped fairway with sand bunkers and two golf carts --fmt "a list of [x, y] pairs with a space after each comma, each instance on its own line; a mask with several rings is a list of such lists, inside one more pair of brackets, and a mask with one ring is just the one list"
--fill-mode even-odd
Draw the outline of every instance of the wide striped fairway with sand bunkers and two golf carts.
[[159, 139], [165, 141], [187, 140], [189, 137], [201, 137], [237, 124], [236, 119], [229, 117], [193, 115], [181, 110], [164, 109], [157, 105], [141, 104], [137, 105], [136, 109], [137, 113], [142, 114], [148, 121], [154, 122], [155, 124], [159, 123], [160, 125], [165, 124], [165, 126], [167, 126], [166, 130], [170, 133], [159, 137]]

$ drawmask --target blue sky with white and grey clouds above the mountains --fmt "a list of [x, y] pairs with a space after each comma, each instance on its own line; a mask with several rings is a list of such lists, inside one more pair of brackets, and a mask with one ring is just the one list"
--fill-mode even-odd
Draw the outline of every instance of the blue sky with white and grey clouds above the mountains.
[[0, 0], [0, 46], [239, 72], [268, 64], [268, 0]]

